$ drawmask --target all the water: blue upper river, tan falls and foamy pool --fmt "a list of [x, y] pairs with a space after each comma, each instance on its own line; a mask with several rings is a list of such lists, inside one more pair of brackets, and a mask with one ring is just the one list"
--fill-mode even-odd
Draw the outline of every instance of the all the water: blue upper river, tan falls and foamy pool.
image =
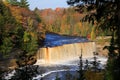
[[[58, 74], [62, 80], [66, 80], [65, 75], [68, 73], [76, 76], [76, 70], [79, 69], [78, 63], [81, 53], [83, 58], [87, 58], [91, 63], [93, 58], [90, 57], [93, 57], [93, 52], [96, 52], [95, 42], [91, 42], [86, 38], [46, 34], [44, 47], [38, 50], [36, 55], [37, 59], [45, 63], [57, 63], [45, 67], [37, 61], [33, 66], [39, 65], [38, 69], [35, 69], [35, 71], [37, 70], [37, 73], [39, 73], [32, 79], [40, 80], [43, 78], [42, 80], [55, 80], [56, 74]], [[100, 61], [102, 61], [101, 64], [104, 65], [107, 59], [100, 59]], [[63, 62], [60, 63], [60, 61]], [[83, 63], [85, 63], [85, 60], [83, 60]], [[31, 70], [34, 69], [32, 68]], [[15, 75], [14, 73], [10, 74]], [[5, 80], [8, 80], [11, 76], [8, 75], [6, 78]]]

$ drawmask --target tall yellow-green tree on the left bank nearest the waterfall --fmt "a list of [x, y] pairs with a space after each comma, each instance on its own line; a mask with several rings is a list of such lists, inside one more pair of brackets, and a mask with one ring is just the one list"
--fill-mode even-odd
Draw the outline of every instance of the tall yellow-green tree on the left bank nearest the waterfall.
[[20, 48], [22, 52], [18, 56], [16, 63], [19, 67], [33, 65], [36, 62], [34, 55], [38, 49], [38, 39], [31, 18], [28, 18], [27, 29], [24, 31], [22, 39], [22, 46]]

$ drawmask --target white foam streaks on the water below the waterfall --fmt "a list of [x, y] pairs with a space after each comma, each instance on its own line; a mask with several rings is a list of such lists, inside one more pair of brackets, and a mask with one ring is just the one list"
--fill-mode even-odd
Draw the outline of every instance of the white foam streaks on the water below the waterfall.
[[[83, 61], [85, 61], [86, 60], [86, 58], [84, 58], [83, 59]], [[87, 59], [88, 61], [94, 61], [94, 59], [93, 58], [88, 58]], [[75, 60], [74, 60], [75, 61]], [[106, 64], [106, 62], [107, 62], [107, 58], [106, 57], [97, 57], [97, 61], [100, 61], [100, 64], [101, 65], [99, 65], [99, 68], [100, 69], [104, 69], [104, 65]], [[71, 63], [72, 61], [66, 61], [66, 62], [63, 62], [63, 63], [61, 63], [61, 62], [58, 62], [58, 63], [52, 63], [52, 65], [54, 64], [54, 65], [60, 65], [60, 66], [62, 66], [62, 65], [66, 65], [66, 66], [78, 66], [78, 62], [79, 62], [79, 59], [77, 59], [76, 60], [76, 63]], [[51, 66], [52, 66], [51, 65]], [[78, 69], [70, 69], [69, 71], [75, 71], [75, 70], [78, 70]], [[66, 70], [66, 69], [63, 69], [63, 70], [53, 70], [53, 71], [49, 71], [49, 72], [46, 72], [46, 73], [43, 73], [42, 75], [38, 75], [37, 77], [33, 77], [33, 80], [35, 80], [35, 79], [41, 79], [42, 77], [45, 77], [45, 76], [47, 76], [47, 75], [49, 75], [49, 74], [51, 74], [51, 73], [55, 73], [55, 72], [62, 72], [62, 71], [68, 71], [68, 70]]]

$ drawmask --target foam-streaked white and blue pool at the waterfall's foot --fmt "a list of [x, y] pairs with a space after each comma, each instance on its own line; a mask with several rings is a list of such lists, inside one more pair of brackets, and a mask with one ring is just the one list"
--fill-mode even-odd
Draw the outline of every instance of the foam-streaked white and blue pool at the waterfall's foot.
[[[87, 58], [89, 61], [89, 66], [92, 67], [91, 62], [94, 61], [93, 58]], [[86, 58], [83, 59], [83, 69], [85, 69], [85, 61]], [[107, 58], [97, 56], [97, 61], [100, 61], [98, 69], [105, 69]], [[52, 69], [50, 68], [52, 67]], [[33, 77], [33, 80], [55, 80], [56, 76], [61, 78], [61, 80], [66, 80], [66, 75], [70, 74], [73, 77], [79, 77], [77, 70], [79, 70], [79, 59], [66, 61], [63, 63], [54, 63], [47, 66], [47, 72], [38, 75], [37, 77]]]

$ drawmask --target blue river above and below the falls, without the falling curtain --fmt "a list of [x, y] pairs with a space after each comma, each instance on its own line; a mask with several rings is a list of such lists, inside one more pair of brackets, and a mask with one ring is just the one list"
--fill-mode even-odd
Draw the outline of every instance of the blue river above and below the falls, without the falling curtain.
[[[44, 41], [44, 47], [55, 47], [61, 46], [65, 44], [73, 44], [73, 43], [83, 43], [89, 42], [89, 40], [85, 37], [78, 37], [78, 36], [61, 36], [54, 33], [46, 34], [46, 39]], [[89, 63], [93, 62], [94, 59], [91, 58], [84, 58], [83, 59], [83, 69], [85, 66], [86, 59]], [[100, 61], [100, 65], [98, 66], [100, 69], [104, 69], [107, 58], [99, 57], [97, 58]], [[61, 78], [61, 80], [66, 80], [66, 76], [72, 76], [72, 78], [78, 77], [77, 70], [79, 70], [79, 57], [75, 58], [74, 60], [67, 60], [57, 63], [51, 64], [43, 64], [37, 63], [33, 66], [38, 66], [37, 72], [32, 77], [32, 80], [55, 80], [57, 78]], [[91, 66], [91, 64], [89, 64]], [[34, 71], [34, 70], [33, 70]], [[10, 72], [8, 75], [5, 75], [5, 80], [9, 80], [12, 76], [16, 74], [16, 71]], [[25, 73], [22, 73], [25, 74]], [[21, 76], [22, 77], [22, 76]]]

